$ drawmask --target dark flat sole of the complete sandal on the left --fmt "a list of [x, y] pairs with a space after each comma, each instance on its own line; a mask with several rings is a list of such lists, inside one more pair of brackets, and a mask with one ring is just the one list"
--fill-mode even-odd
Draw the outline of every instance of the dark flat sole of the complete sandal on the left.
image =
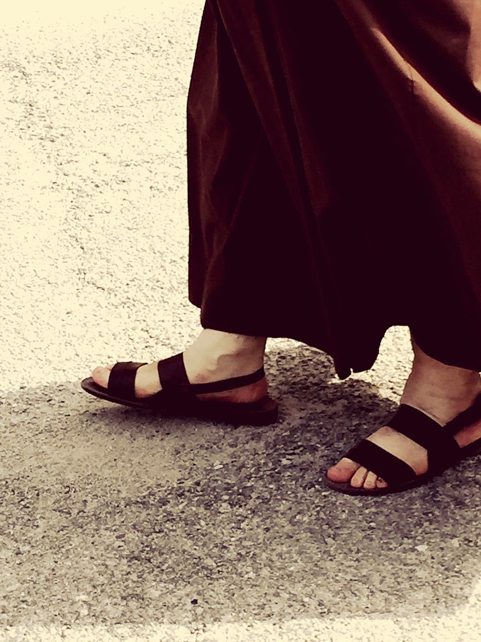
[[278, 420], [278, 403], [264, 395], [257, 401], [248, 403], [233, 403], [227, 401], [199, 401], [192, 399], [172, 399], [167, 396], [162, 398], [162, 390], [156, 395], [155, 401], [150, 397], [143, 399], [122, 399], [106, 392], [106, 389], [95, 383], [92, 377], [81, 381], [81, 387], [85, 392], [105, 399], [112, 403], [129, 406], [130, 408], [142, 408], [164, 413], [169, 417], [198, 417], [199, 419], [215, 419], [233, 425], [242, 426], [267, 426]]

